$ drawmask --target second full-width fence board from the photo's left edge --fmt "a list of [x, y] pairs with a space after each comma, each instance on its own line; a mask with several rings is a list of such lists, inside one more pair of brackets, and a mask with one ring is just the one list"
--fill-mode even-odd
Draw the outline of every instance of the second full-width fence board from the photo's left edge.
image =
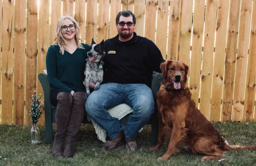
[[24, 125], [26, 0], [15, 3], [14, 36], [13, 125]]

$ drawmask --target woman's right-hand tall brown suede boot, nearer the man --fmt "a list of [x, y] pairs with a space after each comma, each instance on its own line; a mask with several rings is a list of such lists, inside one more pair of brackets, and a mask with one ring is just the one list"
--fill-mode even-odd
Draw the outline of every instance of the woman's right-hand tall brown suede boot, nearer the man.
[[85, 117], [86, 98], [84, 92], [75, 92], [73, 94], [73, 106], [68, 122], [67, 140], [63, 151], [63, 157], [73, 157], [74, 155], [75, 139]]

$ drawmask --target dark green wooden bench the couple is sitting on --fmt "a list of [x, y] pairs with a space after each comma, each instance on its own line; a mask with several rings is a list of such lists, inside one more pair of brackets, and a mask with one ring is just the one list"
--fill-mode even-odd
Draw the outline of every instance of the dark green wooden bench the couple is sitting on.
[[[42, 85], [43, 88], [43, 94], [44, 94], [44, 111], [45, 111], [45, 137], [46, 142], [52, 141], [52, 123], [55, 123], [55, 112], [56, 107], [51, 105], [50, 102], [50, 83], [48, 81], [47, 75], [44, 73], [40, 73], [38, 75], [38, 79]], [[156, 93], [160, 89], [160, 81], [162, 80], [161, 73], [156, 74], [156, 76], [152, 80], [151, 84], [151, 90], [153, 92], [153, 97], [155, 101], [155, 112], [152, 115], [151, 119], [147, 124], [151, 124], [151, 143], [153, 145], [156, 145], [157, 143], [157, 137], [158, 137], [158, 119], [157, 119], [157, 106], [156, 106]], [[132, 114], [132, 113], [131, 113]], [[131, 114], [126, 115], [124, 118], [122, 118], [120, 121], [123, 124], [126, 124], [129, 116]], [[85, 118], [82, 123], [89, 124], [92, 123], [87, 120], [87, 116], [85, 115]]]

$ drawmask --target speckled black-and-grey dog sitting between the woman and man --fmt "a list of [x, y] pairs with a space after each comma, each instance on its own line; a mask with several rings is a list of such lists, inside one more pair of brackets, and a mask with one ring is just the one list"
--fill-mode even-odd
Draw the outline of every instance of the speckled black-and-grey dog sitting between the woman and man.
[[103, 81], [103, 57], [104, 40], [100, 44], [96, 44], [92, 39], [90, 50], [87, 52], [86, 66], [85, 66], [85, 89], [87, 96], [90, 95], [89, 82], [95, 84], [94, 90], [100, 88], [100, 84]]

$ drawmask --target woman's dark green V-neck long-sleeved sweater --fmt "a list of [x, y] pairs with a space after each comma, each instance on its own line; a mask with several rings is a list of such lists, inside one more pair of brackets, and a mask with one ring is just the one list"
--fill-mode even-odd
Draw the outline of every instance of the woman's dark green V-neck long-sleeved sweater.
[[84, 89], [85, 80], [84, 69], [86, 54], [89, 50], [88, 44], [83, 44], [85, 49], [77, 48], [73, 54], [66, 50], [64, 55], [60, 52], [57, 45], [49, 46], [46, 55], [46, 69], [50, 90], [65, 89], [69, 92]]

